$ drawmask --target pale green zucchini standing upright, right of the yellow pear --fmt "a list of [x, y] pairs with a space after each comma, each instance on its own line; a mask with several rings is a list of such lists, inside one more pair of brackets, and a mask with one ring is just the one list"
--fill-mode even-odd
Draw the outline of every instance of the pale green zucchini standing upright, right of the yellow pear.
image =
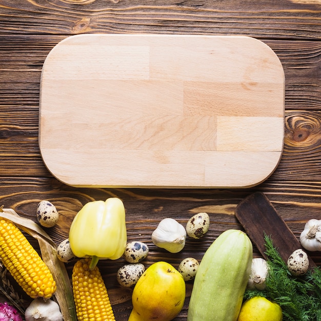
[[253, 247], [240, 230], [220, 234], [205, 252], [191, 293], [188, 321], [236, 321], [251, 272]]

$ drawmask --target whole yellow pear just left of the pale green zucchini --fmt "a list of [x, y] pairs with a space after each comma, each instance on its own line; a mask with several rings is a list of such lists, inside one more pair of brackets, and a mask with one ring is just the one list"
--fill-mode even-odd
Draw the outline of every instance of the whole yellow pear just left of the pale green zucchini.
[[134, 287], [128, 321], [172, 320], [184, 306], [185, 292], [184, 278], [172, 265], [152, 264]]

